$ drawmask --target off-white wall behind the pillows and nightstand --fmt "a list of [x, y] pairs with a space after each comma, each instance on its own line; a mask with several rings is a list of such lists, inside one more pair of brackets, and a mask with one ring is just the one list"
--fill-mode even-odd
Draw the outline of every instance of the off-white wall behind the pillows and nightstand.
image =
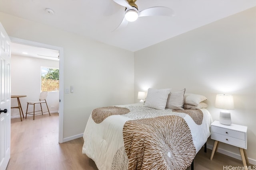
[[[248, 126], [248, 157], [256, 163], [256, 8], [188, 31], [134, 53], [134, 95], [148, 88], [202, 94], [214, 120], [216, 94], [233, 94], [232, 123]], [[138, 101], [135, 98], [135, 101]], [[213, 144], [212, 140], [208, 142]], [[220, 144], [240, 153], [236, 147]]]

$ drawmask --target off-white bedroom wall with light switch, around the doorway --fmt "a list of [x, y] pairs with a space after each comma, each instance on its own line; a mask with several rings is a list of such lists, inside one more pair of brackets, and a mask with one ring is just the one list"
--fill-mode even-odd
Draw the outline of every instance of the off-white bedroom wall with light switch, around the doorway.
[[9, 36], [63, 47], [64, 88], [74, 86], [64, 94], [64, 139], [81, 136], [96, 107], [134, 102], [132, 52], [4, 13], [0, 21]]

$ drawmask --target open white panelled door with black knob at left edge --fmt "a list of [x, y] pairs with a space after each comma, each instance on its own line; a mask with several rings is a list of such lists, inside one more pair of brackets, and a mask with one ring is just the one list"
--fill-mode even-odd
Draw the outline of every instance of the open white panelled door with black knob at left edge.
[[10, 38], [0, 23], [0, 170], [6, 170], [10, 160], [11, 94]]

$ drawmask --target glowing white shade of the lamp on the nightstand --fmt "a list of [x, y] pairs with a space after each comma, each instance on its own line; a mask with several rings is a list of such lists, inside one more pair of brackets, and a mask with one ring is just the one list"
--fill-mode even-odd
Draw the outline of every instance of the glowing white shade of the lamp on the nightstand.
[[234, 99], [232, 95], [217, 94], [215, 100], [215, 107], [219, 109], [233, 110]]

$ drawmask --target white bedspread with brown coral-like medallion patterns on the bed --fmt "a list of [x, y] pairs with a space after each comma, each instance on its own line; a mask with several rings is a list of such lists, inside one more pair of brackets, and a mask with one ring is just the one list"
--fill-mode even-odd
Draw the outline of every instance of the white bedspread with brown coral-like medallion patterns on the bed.
[[185, 170], [210, 136], [210, 123], [206, 109], [101, 107], [88, 120], [82, 152], [99, 170]]

